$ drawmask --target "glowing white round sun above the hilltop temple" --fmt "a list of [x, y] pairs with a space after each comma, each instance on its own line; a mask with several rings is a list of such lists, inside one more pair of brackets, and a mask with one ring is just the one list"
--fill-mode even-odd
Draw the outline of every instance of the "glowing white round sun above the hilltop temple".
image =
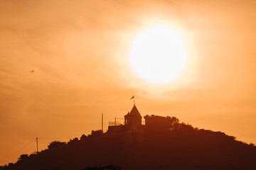
[[170, 26], [151, 26], [132, 40], [129, 63], [136, 76], [151, 84], [176, 81], [188, 60], [180, 31]]

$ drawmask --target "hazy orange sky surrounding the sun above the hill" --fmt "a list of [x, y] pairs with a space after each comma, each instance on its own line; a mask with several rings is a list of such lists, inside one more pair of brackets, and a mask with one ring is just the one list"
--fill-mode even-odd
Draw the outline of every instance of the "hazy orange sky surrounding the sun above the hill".
[[[256, 1], [0, 1], [0, 165], [105, 127], [132, 108], [256, 143]], [[126, 62], [134, 35], [186, 30], [181, 81], [145, 84]], [[35, 70], [31, 73], [31, 69]]]

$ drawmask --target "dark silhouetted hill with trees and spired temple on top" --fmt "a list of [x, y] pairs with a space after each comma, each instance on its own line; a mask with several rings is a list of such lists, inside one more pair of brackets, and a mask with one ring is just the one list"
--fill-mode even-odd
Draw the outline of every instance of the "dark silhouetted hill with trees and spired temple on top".
[[175, 117], [142, 116], [134, 105], [124, 125], [105, 133], [53, 141], [36, 154], [22, 154], [1, 170], [30, 169], [256, 169], [256, 147], [224, 132], [193, 128]]

